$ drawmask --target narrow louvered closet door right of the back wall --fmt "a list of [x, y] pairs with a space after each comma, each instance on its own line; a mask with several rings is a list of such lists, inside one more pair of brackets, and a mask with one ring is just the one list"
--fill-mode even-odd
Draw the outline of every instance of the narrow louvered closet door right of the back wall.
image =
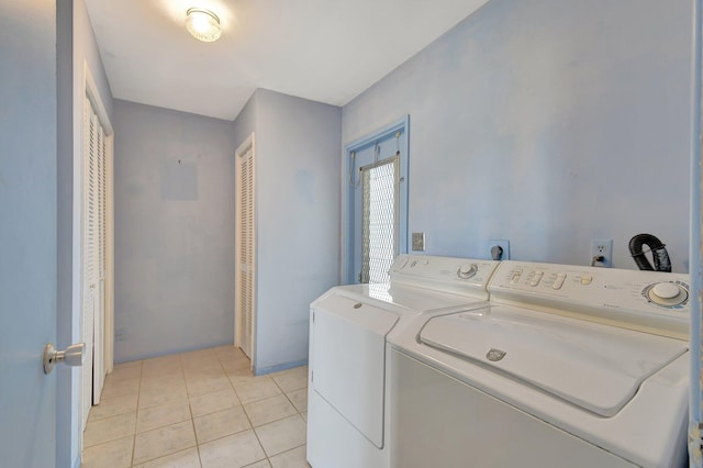
[[254, 153], [238, 157], [237, 178], [237, 288], [236, 316], [238, 345], [252, 358], [255, 313]]

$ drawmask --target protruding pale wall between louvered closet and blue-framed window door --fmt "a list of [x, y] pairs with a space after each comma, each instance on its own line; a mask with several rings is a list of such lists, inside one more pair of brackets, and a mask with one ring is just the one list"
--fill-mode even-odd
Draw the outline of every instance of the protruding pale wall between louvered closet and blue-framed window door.
[[259, 89], [234, 123], [256, 133], [257, 374], [306, 363], [310, 302], [337, 283], [341, 115]]

